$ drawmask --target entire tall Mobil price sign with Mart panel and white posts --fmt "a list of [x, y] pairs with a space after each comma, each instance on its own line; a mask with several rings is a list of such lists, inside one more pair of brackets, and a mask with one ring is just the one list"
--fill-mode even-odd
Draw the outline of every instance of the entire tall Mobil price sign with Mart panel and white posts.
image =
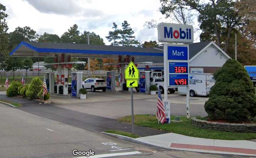
[[190, 118], [190, 89], [189, 89], [189, 47], [193, 43], [192, 25], [160, 23], [158, 25], [158, 41], [164, 43], [164, 100], [168, 101], [169, 87], [186, 86], [186, 113]]

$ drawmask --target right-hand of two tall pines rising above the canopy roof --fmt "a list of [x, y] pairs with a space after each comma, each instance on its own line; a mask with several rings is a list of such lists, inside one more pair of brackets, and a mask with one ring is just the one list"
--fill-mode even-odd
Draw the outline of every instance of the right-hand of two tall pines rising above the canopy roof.
[[135, 36], [133, 36], [134, 31], [130, 28], [130, 24], [128, 24], [127, 21], [122, 23], [122, 30], [120, 30], [120, 34], [121, 41], [119, 44], [122, 46], [132, 46], [133, 44], [136, 44]]

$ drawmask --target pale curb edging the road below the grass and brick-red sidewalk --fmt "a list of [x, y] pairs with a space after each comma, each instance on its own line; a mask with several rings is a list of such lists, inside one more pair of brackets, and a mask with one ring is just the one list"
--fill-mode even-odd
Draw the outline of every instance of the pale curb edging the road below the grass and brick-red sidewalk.
[[147, 145], [147, 146], [152, 146], [152, 147], [160, 147], [160, 148], [169, 149], [169, 150], [191, 151], [191, 152], [198, 152], [198, 153], [225, 154], [225, 155], [256, 156], [254, 154], [244, 154], [244, 153], [203, 151], [203, 150], [194, 150], [194, 149], [186, 149], [186, 148], [165, 147], [165, 146], [161, 146], [161, 145], [158, 145], [158, 144], [144, 142], [142, 140], [137, 140], [137, 139], [127, 137], [127, 136], [123, 136], [123, 135], [119, 135], [119, 134], [112, 134], [112, 133], [106, 133], [106, 132], [101, 132], [101, 133], [105, 134], [105, 135], [108, 135], [108, 136], [116, 137], [118, 139], [122, 139], [122, 140], [125, 140], [125, 141], [130, 141], [130, 142], [134, 142], [134, 143], [137, 143], [137, 144]]

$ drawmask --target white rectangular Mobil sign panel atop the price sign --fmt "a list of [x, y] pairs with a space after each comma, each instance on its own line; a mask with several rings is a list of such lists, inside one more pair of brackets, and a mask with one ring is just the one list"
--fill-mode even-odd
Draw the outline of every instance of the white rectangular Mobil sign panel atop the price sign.
[[193, 43], [193, 26], [170, 23], [158, 24], [159, 42]]

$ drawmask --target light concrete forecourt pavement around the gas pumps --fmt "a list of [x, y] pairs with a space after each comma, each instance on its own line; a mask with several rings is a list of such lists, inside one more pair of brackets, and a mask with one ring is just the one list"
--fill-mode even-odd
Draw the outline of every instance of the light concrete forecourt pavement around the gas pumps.
[[[91, 101], [90, 97], [95, 98]], [[156, 113], [156, 97], [157, 95], [145, 95], [134, 93], [134, 114]], [[64, 104], [54, 104], [65, 109], [88, 113], [91, 115], [118, 119], [123, 116], [131, 115], [130, 94], [128, 93], [112, 93], [112, 92], [88, 92], [86, 100], [64, 98]], [[97, 98], [97, 99], [96, 99]], [[108, 98], [104, 101], [104, 98]], [[178, 94], [168, 94], [171, 102], [171, 115], [186, 115], [186, 96]], [[205, 116], [204, 103], [208, 98], [193, 97], [191, 98], [191, 116]], [[62, 102], [64, 102], [62, 100]], [[75, 102], [76, 101], [76, 102]], [[172, 104], [175, 102], [175, 104]]]

